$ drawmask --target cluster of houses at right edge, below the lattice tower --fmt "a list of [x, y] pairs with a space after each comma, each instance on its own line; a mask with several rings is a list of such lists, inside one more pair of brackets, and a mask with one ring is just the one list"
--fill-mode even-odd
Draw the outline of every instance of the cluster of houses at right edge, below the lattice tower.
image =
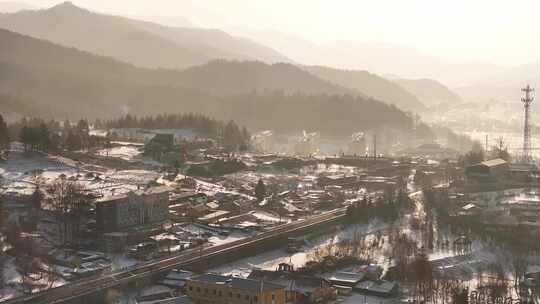
[[[440, 171], [422, 172], [419, 180], [441, 181]], [[540, 170], [534, 164], [509, 163], [496, 158], [465, 167], [447, 186], [435, 186], [437, 195], [448, 197], [451, 216], [474, 217], [475, 223], [492, 231], [525, 228], [540, 234]], [[461, 176], [461, 179], [459, 178]]]

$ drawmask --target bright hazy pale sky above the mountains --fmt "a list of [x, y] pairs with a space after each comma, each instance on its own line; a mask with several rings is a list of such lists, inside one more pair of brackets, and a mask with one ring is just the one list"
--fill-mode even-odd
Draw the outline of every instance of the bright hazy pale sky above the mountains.
[[[1, 1], [1, 0], [0, 0]], [[59, 1], [26, 0], [35, 6]], [[182, 16], [204, 27], [273, 29], [314, 42], [415, 47], [452, 61], [519, 65], [540, 60], [540, 1], [73, 0], [102, 12]]]

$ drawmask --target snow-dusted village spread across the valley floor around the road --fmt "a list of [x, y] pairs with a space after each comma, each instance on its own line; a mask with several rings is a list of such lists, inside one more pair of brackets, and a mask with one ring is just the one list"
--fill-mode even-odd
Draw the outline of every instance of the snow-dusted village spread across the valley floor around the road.
[[[524, 190], [537, 183], [534, 165], [500, 158], [474, 163], [479, 156], [458, 159], [435, 144], [394, 150], [399, 156], [392, 158], [370, 155], [373, 146], [364, 133], [351, 136], [348, 153], [322, 156], [313, 134], [299, 134], [287, 148], [265, 131], [252, 135], [249, 150], [241, 152], [196, 129], [74, 127], [82, 128], [82, 138], [104, 140], [55, 153], [18, 141], [4, 150], [2, 292], [8, 298], [222, 248], [340, 209], [350, 223], [341, 224], [343, 232], [335, 237], [343, 240], [337, 243], [325, 244], [336, 233], [331, 230], [312, 241], [310, 234], [289, 238], [272, 253], [282, 258], [256, 262], [262, 268], [232, 266], [221, 274], [212, 268], [173, 269], [119, 299], [200, 303], [238, 295], [277, 303], [354, 303], [357, 294], [381, 301], [420, 297], [396, 267], [424, 261], [434, 278], [464, 279], [456, 273], [461, 268], [450, 266], [452, 259], [480, 258], [459, 270], [470, 275], [500, 259], [486, 255], [489, 245], [477, 240], [477, 233], [499, 239], [537, 230], [536, 194]], [[290, 152], [272, 152], [285, 148]], [[363, 234], [368, 223], [394, 228]], [[364, 228], [348, 228], [359, 224]], [[469, 232], [448, 232], [448, 225]], [[409, 232], [400, 233], [403, 227]], [[321, 241], [325, 245], [317, 247]], [[365, 242], [371, 245], [361, 245]], [[407, 245], [415, 249], [406, 260], [394, 255], [401, 243], [414, 244]], [[535, 284], [527, 269], [520, 273], [521, 284]]]

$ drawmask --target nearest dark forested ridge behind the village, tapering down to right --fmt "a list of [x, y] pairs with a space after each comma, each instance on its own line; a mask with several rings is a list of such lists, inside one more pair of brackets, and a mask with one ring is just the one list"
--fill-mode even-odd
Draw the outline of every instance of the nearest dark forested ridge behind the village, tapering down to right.
[[197, 112], [254, 129], [346, 136], [412, 127], [398, 108], [343, 94], [351, 90], [290, 64], [213, 61], [182, 71], [146, 69], [7, 30], [0, 30], [0, 41], [0, 105], [23, 115]]

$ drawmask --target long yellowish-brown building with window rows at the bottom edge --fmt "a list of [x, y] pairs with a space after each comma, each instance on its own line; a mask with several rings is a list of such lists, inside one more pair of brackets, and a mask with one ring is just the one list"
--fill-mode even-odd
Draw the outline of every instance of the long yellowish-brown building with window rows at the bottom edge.
[[264, 280], [202, 274], [187, 280], [195, 304], [285, 304], [285, 286]]

